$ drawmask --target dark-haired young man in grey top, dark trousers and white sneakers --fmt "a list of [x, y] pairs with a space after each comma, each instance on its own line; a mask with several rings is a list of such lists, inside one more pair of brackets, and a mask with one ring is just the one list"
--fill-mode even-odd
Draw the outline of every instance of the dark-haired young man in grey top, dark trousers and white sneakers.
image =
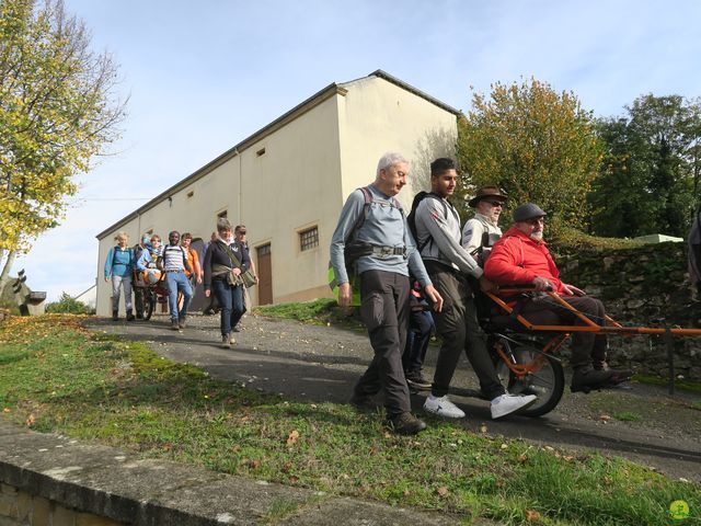
[[536, 397], [507, 393], [486, 350], [486, 336], [478, 323], [468, 275], [480, 281], [482, 290], [491, 290], [494, 285], [482, 276], [482, 268], [460, 245], [460, 216], [447, 199], [456, 188], [457, 179], [451, 159], [436, 159], [430, 163], [430, 194], [416, 208], [416, 243], [422, 248], [421, 256], [430, 281], [445, 301], [443, 311], [434, 315], [443, 345], [424, 410], [449, 419], [464, 416], [448, 398], [450, 380], [464, 350], [482, 392], [491, 400], [492, 418], [499, 419], [533, 403]]

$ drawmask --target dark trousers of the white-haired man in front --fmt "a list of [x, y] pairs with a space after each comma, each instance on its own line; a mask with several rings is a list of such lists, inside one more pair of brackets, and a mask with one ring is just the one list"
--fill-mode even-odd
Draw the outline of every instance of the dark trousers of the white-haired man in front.
[[384, 393], [387, 416], [411, 411], [402, 352], [409, 324], [409, 277], [393, 272], [360, 274], [360, 316], [375, 357], [355, 386], [357, 397]]

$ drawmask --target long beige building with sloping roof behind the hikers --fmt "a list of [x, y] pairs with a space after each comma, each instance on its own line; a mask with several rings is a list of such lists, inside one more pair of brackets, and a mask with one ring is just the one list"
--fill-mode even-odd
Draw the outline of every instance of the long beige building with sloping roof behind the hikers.
[[[453, 156], [458, 114], [381, 70], [330, 84], [100, 232], [97, 275], [120, 230], [131, 240], [187, 230], [207, 241], [226, 215], [249, 230], [261, 277], [250, 289], [254, 305], [330, 296], [329, 244], [345, 198], [375, 179], [378, 159], [392, 150], [412, 164], [399, 195], [409, 208], [428, 184], [429, 162]], [[97, 279], [97, 315], [111, 313], [111, 294]]]

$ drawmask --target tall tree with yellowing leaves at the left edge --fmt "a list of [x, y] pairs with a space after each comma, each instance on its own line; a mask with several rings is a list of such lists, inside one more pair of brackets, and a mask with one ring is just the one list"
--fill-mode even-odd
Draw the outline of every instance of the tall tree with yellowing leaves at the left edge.
[[118, 138], [117, 67], [60, 0], [0, 0], [0, 291], [18, 252], [56, 227], [76, 175]]

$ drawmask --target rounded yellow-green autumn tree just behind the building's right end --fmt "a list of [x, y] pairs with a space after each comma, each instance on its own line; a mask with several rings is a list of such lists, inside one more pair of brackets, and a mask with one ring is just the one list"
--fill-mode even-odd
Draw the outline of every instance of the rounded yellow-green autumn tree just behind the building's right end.
[[[474, 93], [458, 122], [461, 193], [496, 184], [509, 207], [531, 202], [548, 211], [549, 232], [582, 228], [586, 196], [602, 159], [593, 114], [572, 92], [555, 92], [536, 79], [492, 84]], [[510, 214], [504, 214], [506, 222]]]

